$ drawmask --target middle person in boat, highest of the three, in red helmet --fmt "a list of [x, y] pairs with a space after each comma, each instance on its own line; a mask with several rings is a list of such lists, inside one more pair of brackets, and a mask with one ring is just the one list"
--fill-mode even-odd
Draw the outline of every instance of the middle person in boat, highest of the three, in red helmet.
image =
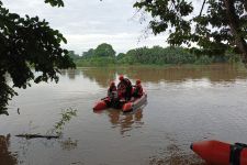
[[131, 100], [132, 98], [132, 82], [130, 79], [124, 78], [123, 75], [120, 75], [119, 77], [119, 85], [117, 85], [117, 94], [119, 99], [125, 99], [125, 101]]

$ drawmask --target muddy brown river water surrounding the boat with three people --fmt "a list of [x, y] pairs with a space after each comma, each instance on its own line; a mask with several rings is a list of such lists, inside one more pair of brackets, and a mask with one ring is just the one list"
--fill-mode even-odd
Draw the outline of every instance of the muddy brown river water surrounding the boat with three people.
[[[94, 113], [93, 103], [119, 74], [142, 79], [146, 107]], [[10, 116], [0, 116], [0, 165], [202, 165], [190, 151], [194, 141], [247, 143], [247, 72], [236, 66], [78, 68], [63, 70], [58, 84], [18, 92]], [[77, 117], [61, 139], [15, 136], [45, 134], [68, 108]]]

